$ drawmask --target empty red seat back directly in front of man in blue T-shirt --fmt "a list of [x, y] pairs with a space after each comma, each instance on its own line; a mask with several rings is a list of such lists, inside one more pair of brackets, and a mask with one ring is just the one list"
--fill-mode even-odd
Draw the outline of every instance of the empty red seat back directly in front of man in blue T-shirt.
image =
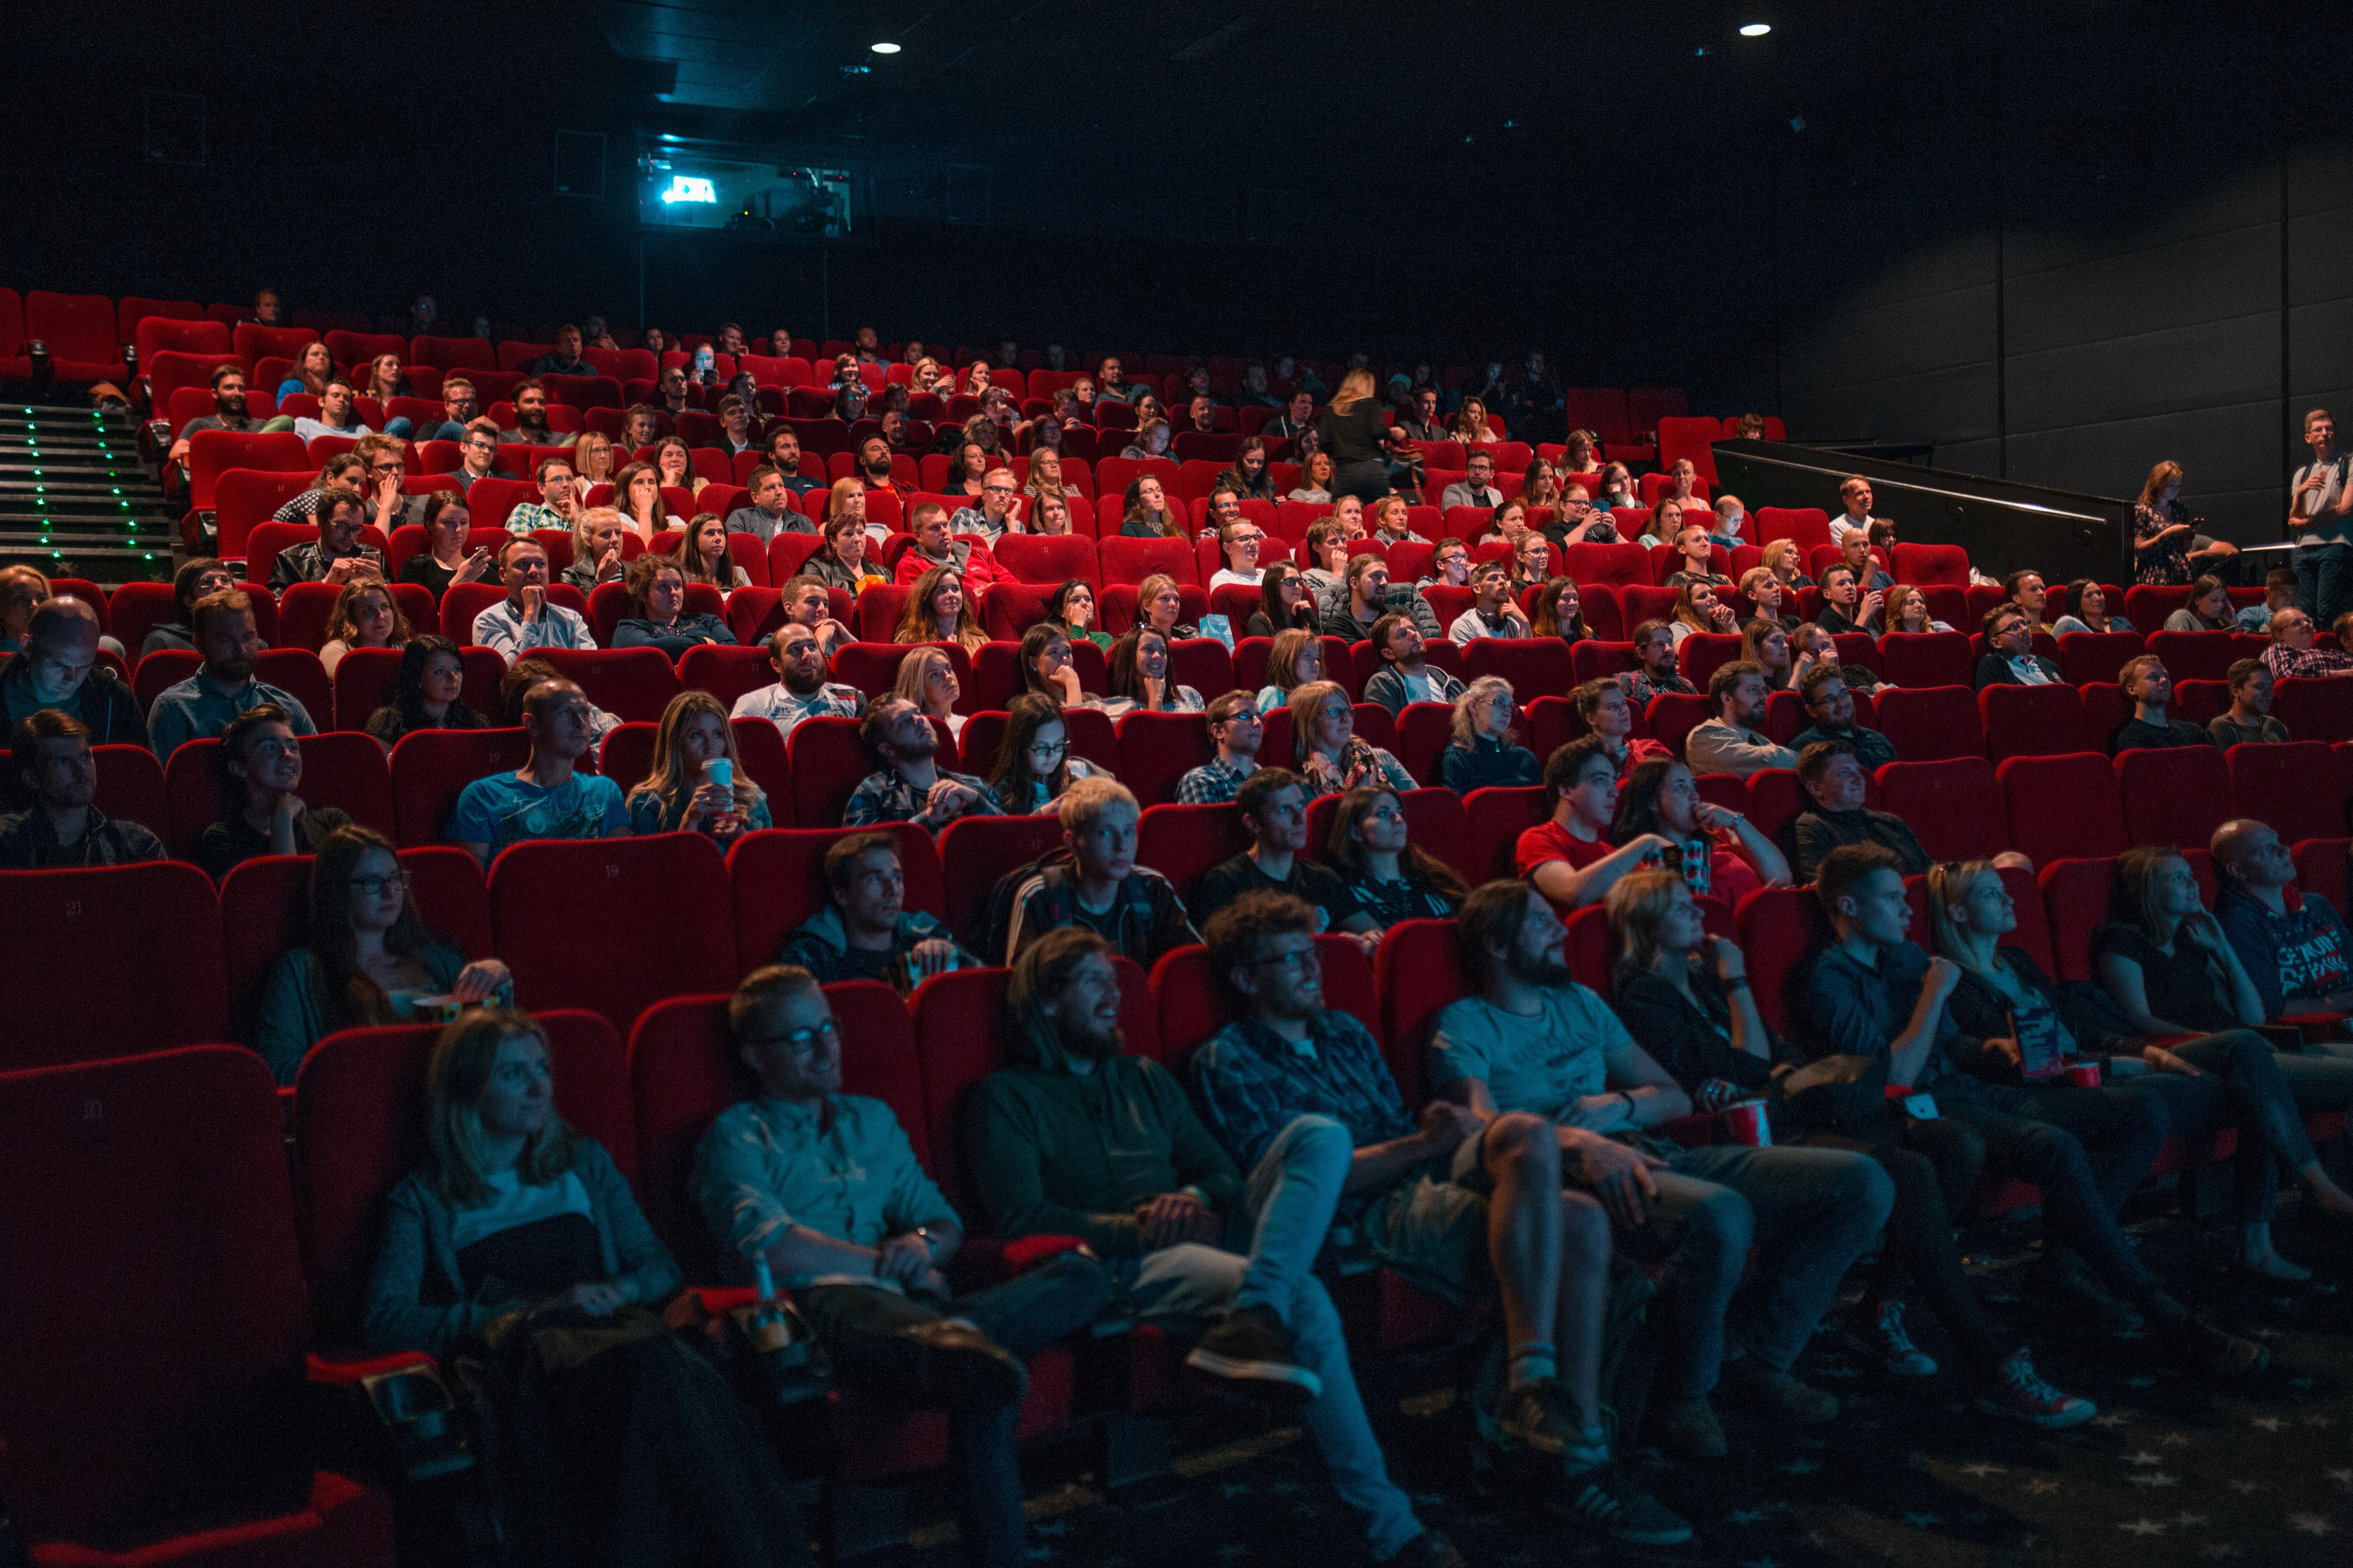
[[[678, 919], [640, 924], [626, 959], [581, 929], [579, 912], [626, 889], [661, 889]], [[675, 992], [736, 980], [732, 896], [718, 844], [699, 832], [642, 839], [532, 839], [489, 867], [489, 919], [522, 1009], [586, 1006], [626, 1030]]]

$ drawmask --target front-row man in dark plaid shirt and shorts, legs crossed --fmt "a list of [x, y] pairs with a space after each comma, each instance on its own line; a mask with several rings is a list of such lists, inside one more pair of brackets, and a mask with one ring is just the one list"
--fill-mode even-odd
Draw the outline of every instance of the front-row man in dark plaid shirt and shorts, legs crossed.
[[[1609, 1458], [1609, 1218], [1591, 1194], [1562, 1192], [1553, 1128], [1525, 1114], [1482, 1124], [1447, 1100], [1409, 1114], [1381, 1044], [1325, 1006], [1315, 912], [1297, 898], [1247, 893], [1219, 910], [1209, 969], [1242, 1004], [1193, 1053], [1195, 1100], [1226, 1152], [1257, 1166], [1301, 1117], [1346, 1131], [1351, 1154], [1327, 1164], [1325, 1194], [1339, 1248], [1457, 1305], [1487, 1295], [1489, 1272], [1501, 1286], [1508, 1366], [1482, 1415], [1499, 1448], [1537, 1458], [1527, 1481], [1544, 1507], [1628, 1544], [1689, 1540], [1692, 1526]], [[1591, 1178], [1640, 1161], [1602, 1138], [1577, 1143]]]

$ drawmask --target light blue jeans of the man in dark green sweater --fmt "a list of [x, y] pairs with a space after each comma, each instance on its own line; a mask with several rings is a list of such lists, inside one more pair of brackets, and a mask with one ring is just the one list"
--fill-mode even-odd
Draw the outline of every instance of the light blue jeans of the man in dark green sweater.
[[1315, 1279], [1315, 1253], [1332, 1229], [1341, 1182], [1355, 1161], [1355, 1143], [1332, 1117], [1299, 1117], [1268, 1145], [1249, 1171], [1242, 1208], [1226, 1218], [1226, 1244], [1235, 1251], [1181, 1241], [1146, 1253], [1132, 1265], [1136, 1309], [1151, 1319], [1198, 1326], [1228, 1307], [1271, 1307], [1292, 1331], [1299, 1363], [1322, 1382], [1306, 1408], [1306, 1427], [1322, 1448], [1325, 1469], [1341, 1502], [1365, 1514], [1374, 1556], [1391, 1556], [1421, 1535], [1414, 1505], [1388, 1479], [1372, 1420], [1348, 1371], [1348, 1342], [1339, 1309]]

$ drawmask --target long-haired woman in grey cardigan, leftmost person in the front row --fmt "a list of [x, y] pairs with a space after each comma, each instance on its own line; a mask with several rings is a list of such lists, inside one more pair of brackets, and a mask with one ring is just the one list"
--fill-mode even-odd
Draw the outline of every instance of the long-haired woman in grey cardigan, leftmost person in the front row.
[[[515, 1420], [544, 1434], [562, 1495], [511, 1521], [518, 1554], [807, 1566], [767, 1439], [656, 1314], [678, 1265], [612, 1154], [555, 1114], [544, 1030], [504, 1009], [442, 1030], [426, 1131], [424, 1168], [384, 1204], [362, 1335], [376, 1352], [485, 1354], [482, 1396], [536, 1406]], [[506, 1333], [522, 1359], [485, 1352], [482, 1331], [518, 1312]]]

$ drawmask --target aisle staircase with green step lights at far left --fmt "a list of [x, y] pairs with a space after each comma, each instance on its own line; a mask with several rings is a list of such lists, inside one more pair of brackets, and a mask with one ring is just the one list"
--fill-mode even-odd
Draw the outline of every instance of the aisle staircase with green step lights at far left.
[[174, 515], [127, 414], [0, 404], [0, 567], [101, 585], [169, 578]]

